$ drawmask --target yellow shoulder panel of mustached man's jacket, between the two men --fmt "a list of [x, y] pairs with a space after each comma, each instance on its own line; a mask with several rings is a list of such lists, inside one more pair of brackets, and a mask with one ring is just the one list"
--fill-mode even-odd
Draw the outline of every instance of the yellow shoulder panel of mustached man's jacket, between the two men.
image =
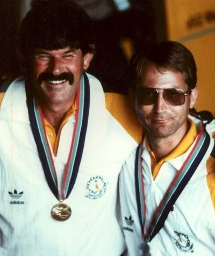
[[139, 144], [142, 141], [142, 126], [128, 96], [105, 93], [106, 109]]

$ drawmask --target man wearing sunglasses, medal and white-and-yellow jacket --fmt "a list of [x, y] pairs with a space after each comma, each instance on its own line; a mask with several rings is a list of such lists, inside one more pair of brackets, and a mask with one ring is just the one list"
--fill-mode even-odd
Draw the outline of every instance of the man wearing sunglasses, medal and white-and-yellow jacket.
[[215, 255], [215, 122], [189, 115], [196, 63], [164, 41], [135, 63], [135, 109], [144, 139], [120, 174], [128, 255]]

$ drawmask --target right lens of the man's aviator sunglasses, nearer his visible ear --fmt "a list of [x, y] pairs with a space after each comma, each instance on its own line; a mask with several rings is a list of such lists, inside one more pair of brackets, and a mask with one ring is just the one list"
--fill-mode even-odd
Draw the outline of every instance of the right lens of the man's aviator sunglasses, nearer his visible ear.
[[184, 104], [185, 95], [184, 92], [178, 89], [166, 89], [163, 93], [163, 98], [169, 103], [171, 106], [180, 106]]

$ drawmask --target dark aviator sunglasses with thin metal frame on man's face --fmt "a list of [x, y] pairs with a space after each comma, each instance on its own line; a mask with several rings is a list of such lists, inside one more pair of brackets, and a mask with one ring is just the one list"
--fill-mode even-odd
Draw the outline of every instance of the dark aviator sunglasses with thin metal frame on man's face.
[[140, 105], [152, 105], [157, 101], [157, 96], [163, 94], [163, 99], [170, 106], [180, 106], [185, 102], [185, 96], [190, 95], [192, 90], [184, 92], [182, 89], [168, 88], [163, 89], [163, 92], [157, 91], [160, 88], [141, 88], [137, 94], [137, 101]]

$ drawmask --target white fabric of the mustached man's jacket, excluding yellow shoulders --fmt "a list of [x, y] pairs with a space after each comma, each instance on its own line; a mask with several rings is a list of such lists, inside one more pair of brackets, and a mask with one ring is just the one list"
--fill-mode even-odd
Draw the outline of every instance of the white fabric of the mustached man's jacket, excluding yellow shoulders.
[[[4, 95], [0, 108], [1, 256], [119, 256], [125, 250], [116, 213], [117, 183], [121, 166], [138, 143], [106, 109], [99, 81], [89, 74], [88, 78], [88, 129], [74, 188], [64, 200], [72, 211], [65, 222], [51, 217], [59, 201], [39, 160], [24, 81], [12, 82]], [[62, 128], [58, 154], [52, 153], [59, 181], [73, 127], [71, 116]]]

